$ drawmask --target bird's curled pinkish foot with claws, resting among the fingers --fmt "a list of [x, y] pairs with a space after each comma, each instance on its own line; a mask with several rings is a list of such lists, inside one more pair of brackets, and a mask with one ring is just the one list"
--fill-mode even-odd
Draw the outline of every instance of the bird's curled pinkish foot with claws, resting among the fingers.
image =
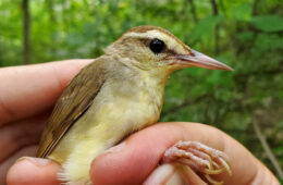
[[232, 175], [229, 157], [217, 149], [210, 148], [199, 141], [179, 141], [169, 148], [162, 162], [180, 162], [200, 172], [211, 184], [222, 184], [210, 177], [227, 171]]

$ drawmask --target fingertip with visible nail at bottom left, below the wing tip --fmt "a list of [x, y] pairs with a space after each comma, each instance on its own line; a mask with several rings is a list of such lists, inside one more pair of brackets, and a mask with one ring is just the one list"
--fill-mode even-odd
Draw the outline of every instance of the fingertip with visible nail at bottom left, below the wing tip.
[[7, 175], [8, 185], [56, 185], [60, 166], [48, 159], [20, 158]]

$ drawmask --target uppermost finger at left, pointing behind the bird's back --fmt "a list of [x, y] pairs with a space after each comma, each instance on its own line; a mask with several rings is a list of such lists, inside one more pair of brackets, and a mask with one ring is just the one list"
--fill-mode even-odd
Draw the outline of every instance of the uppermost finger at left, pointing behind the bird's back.
[[67, 60], [0, 69], [0, 125], [54, 103], [67, 83], [93, 60]]

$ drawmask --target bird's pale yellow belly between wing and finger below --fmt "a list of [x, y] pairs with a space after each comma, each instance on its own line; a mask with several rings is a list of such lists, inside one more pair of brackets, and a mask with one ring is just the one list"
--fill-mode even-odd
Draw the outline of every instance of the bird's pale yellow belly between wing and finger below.
[[[62, 164], [61, 180], [89, 183], [89, 169], [95, 157], [130, 133], [158, 121], [161, 108], [152, 104], [147, 96], [136, 97], [96, 97], [93, 106], [49, 156]], [[97, 106], [96, 101], [103, 103]]]

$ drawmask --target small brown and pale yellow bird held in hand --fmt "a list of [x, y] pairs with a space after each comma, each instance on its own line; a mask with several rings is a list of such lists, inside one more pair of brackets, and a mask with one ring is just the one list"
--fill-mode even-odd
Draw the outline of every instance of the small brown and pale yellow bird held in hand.
[[[193, 66], [233, 70], [190, 49], [161, 27], [128, 29], [70, 82], [44, 130], [37, 157], [60, 163], [58, 176], [65, 184], [91, 184], [91, 161], [125, 136], [157, 123], [169, 76]], [[164, 153], [164, 161], [174, 160], [181, 148], [201, 147], [206, 148], [197, 141], [181, 141]], [[202, 170], [208, 180], [213, 172], [230, 171], [229, 158], [222, 151], [218, 153], [221, 160]]]

